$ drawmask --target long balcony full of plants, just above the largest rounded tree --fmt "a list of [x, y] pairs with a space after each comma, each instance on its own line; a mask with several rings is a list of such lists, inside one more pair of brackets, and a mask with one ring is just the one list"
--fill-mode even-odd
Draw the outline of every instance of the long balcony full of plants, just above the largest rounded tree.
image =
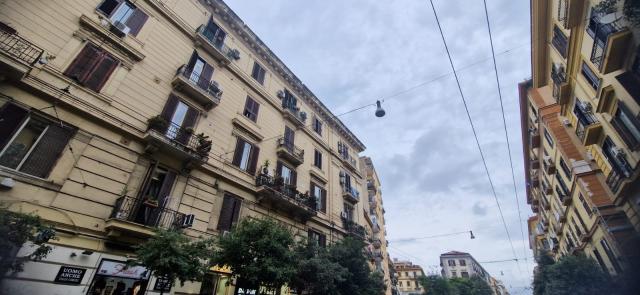
[[316, 199], [287, 185], [281, 177], [260, 174], [256, 177], [257, 196], [260, 204], [288, 213], [303, 222], [316, 215]]

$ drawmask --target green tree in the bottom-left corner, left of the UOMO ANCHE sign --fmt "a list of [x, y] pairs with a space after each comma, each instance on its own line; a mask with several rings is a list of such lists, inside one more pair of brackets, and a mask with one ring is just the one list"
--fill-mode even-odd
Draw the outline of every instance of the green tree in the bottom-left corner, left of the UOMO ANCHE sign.
[[[55, 234], [37, 215], [0, 209], [0, 277], [8, 271], [22, 271], [29, 260], [46, 258], [51, 252], [51, 246], [46, 243], [55, 240]], [[26, 243], [33, 244], [33, 251], [18, 257], [18, 251]]]

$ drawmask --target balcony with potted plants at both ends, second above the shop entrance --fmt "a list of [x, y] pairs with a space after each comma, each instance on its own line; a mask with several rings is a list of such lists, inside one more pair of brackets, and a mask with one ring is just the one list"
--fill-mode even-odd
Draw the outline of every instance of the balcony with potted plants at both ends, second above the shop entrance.
[[209, 159], [211, 140], [203, 134], [194, 134], [193, 129], [182, 128], [167, 122], [160, 116], [149, 119], [146, 152], [164, 152], [184, 162], [184, 168], [202, 165]]

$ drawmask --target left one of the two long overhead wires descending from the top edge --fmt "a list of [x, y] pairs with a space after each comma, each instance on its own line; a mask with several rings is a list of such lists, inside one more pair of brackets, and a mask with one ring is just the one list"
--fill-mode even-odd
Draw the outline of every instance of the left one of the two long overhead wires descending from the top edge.
[[[442, 43], [444, 44], [444, 48], [447, 52], [447, 57], [449, 59], [449, 64], [451, 65], [451, 69], [453, 71], [453, 76], [456, 79], [456, 85], [458, 86], [458, 91], [460, 92], [460, 97], [462, 98], [462, 104], [464, 105], [465, 112], [467, 113], [467, 119], [469, 120], [469, 125], [471, 126], [471, 131], [473, 131], [473, 137], [475, 138], [476, 145], [478, 147], [478, 151], [480, 152], [480, 157], [482, 158], [482, 164], [484, 165], [484, 170], [487, 174], [487, 179], [489, 180], [489, 185], [491, 186], [491, 191], [493, 192], [493, 197], [496, 200], [496, 204], [498, 205], [498, 211], [500, 212], [500, 218], [502, 219], [502, 224], [504, 225], [504, 230], [507, 233], [507, 238], [509, 239], [509, 244], [511, 245], [511, 251], [513, 252], [513, 257], [517, 257], [516, 250], [513, 247], [513, 241], [511, 240], [511, 234], [509, 234], [509, 228], [507, 227], [507, 222], [504, 219], [504, 214], [502, 212], [502, 207], [500, 206], [500, 201], [498, 200], [498, 195], [496, 194], [496, 189], [493, 185], [493, 180], [491, 180], [491, 175], [489, 173], [489, 167], [487, 166], [487, 161], [484, 156], [484, 152], [482, 152], [482, 147], [480, 146], [480, 140], [478, 139], [478, 134], [476, 132], [476, 128], [473, 124], [473, 120], [471, 119], [471, 113], [469, 112], [469, 107], [467, 106], [467, 101], [464, 98], [464, 93], [462, 92], [462, 86], [460, 85], [460, 79], [458, 78], [458, 74], [456, 72], [455, 66], [453, 65], [453, 59], [451, 57], [451, 52], [449, 52], [449, 46], [447, 46], [447, 41], [444, 37], [444, 32], [442, 31], [442, 26], [440, 25], [440, 20], [438, 19], [438, 13], [436, 12], [436, 7], [433, 5], [433, 0], [429, 0], [431, 3], [431, 8], [433, 10], [433, 15], [435, 16], [436, 23], [438, 25], [438, 31], [440, 32], [440, 36], [442, 37]], [[518, 263], [518, 261], [516, 261]], [[518, 269], [520, 269], [520, 263], [518, 263]], [[520, 270], [522, 271], [522, 270]]]

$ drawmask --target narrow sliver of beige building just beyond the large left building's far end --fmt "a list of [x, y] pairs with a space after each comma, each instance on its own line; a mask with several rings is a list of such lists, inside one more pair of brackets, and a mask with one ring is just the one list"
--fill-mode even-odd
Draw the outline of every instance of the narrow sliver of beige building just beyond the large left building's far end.
[[365, 212], [365, 228], [367, 232], [371, 233], [367, 253], [372, 257], [371, 267], [374, 271], [382, 272], [384, 275], [386, 294], [392, 295], [393, 291], [397, 288], [395, 285], [395, 278], [393, 270], [393, 264], [391, 258], [389, 258], [389, 252], [387, 246], [387, 230], [384, 221], [384, 204], [382, 202], [382, 189], [380, 178], [373, 166], [373, 161], [370, 157], [360, 157], [360, 169], [364, 175], [367, 183], [368, 191], [368, 204], [364, 208]]

